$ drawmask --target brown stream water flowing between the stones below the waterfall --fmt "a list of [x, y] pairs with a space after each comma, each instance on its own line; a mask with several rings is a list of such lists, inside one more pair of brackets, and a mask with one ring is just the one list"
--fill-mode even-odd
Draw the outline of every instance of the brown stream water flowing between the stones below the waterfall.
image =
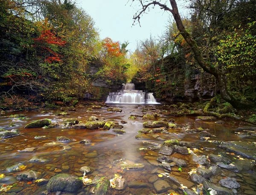
[[[111, 105], [113, 106], [113, 105]], [[112, 113], [108, 112], [106, 107], [103, 107], [99, 110], [93, 110], [94, 112], [99, 113], [86, 113], [86, 108], [78, 108], [76, 111], [70, 111], [70, 116], [52, 116], [50, 114], [41, 114], [41, 111], [33, 111], [33, 112], [12, 112], [5, 113], [0, 116], [0, 127], [11, 130], [13, 128], [17, 128], [20, 130], [21, 136], [15, 136], [12, 138], [2, 139], [0, 141], [0, 174], [11, 175], [15, 178], [18, 174], [26, 170], [37, 171], [40, 174], [41, 178], [49, 179], [52, 176], [58, 173], [69, 173], [75, 174], [77, 176], [82, 176], [83, 174], [78, 170], [82, 166], [88, 166], [91, 168], [91, 172], [88, 173], [89, 178], [93, 178], [96, 175], [106, 176], [109, 179], [114, 177], [115, 173], [122, 175], [122, 178], [125, 178], [129, 184], [131, 181], [141, 181], [146, 183], [147, 187], [141, 188], [130, 188], [127, 187], [125, 190], [118, 191], [115, 189], [108, 190], [107, 194], [132, 194], [132, 195], [149, 195], [149, 194], [157, 194], [153, 184], [149, 183], [149, 178], [159, 173], [169, 172], [164, 170], [162, 167], [157, 165], [156, 158], [159, 156], [157, 151], [153, 150], [139, 150], [139, 148], [148, 148], [148, 145], [143, 144], [143, 141], [154, 141], [158, 144], [162, 144], [164, 140], [168, 139], [178, 139], [182, 141], [190, 141], [197, 142], [201, 144], [201, 147], [211, 147], [216, 148], [217, 150], [212, 151], [217, 154], [220, 151], [223, 151], [216, 147], [216, 144], [204, 141], [200, 139], [198, 133], [181, 133], [180, 129], [169, 129], [170, 134], [166, 133], [154, 133], [154, 135], [159, 135], [156, 138], [153, 138], [153, 134], [147, 134], [145, 139], [139, 140], [134, 138], [138, 133], [138, 130], [143, 128], [142, 118], [137, 118], [136, 120], [128, 119], [131, 114], [139, 114], [142, 115], [141, 110], [147, 108], [157, 108], [159, 105], [143, 105], [139, 107], [135, 107], [136, 105], [114, 105], [115, 107], [120, 107], [122, 109], [122, 113]], [[149, 107], [148, 107], [149, 106]], [[54, 110], [57, 112], [59, 110]], [[152, 110], [152, 112], [156, 112], [157, 110]], [[7, 118], [5, 116], [23, 113], [26, 117], [30, 119], [24, 121], [17, 121], [12, 118]], [[151, 113], [149, 110], [148, 113]], [[127, 124], [123, 124], [123, 130], [126, 131], [125, 134], [117, 135], [112, 132], [112, 130], [79, 130], [79, 129], [66, 129], [63, 127], [55, 127], [52, 129], [24, 129], [24, 126], [29, 122], [33, 122], [38, 119], [51, 119], [52, 122], [63, 122], [61, 119], [67, 118], [77, 118], [78, 116], [82, 117], [79, 120], [86, 120], [90, 116], [96, 116], [99, 119], [105, 118], [115, 119], [120, 123], [121, 120], [128, 122]], [[237, 131], [238, 123], [236, 122], [225, 122], [225, 124], [216, 124], [214, 122], [201, 122], [195, 121], [195, 117], [161, 117], [166, 119], [175, 119], [177, 124], [183, 124], [187, 122], [195, 122], [192, 128], [202, 127], [204, 129], [208, 128], [210, 133], [217, 136], [216, 138], [212, 138], [212, 140], [218, 141], [230, 141], [230, 140], [239, 140], [239, 137], [236, 136], [235, 131]], [[157, 119], [156, 119], [157, 120]], [[13, 122], [17, 124], [17, 127], [8, 127], [8, 125]], [[47, 136], [45, 139], [35, 139], [35, 136]], [[58, 136], [66, 136], [70, 138], [69, 142], [61, 143], [61, 144], [51, 144], [45, 146], [47, 143], [51, 143], [56, 141], [56, 137]], [[80, 144], [79, 141], [83, 139], [90, 140], [90, 144]], [[255, 140], [254, 140], [255, 141]], [[36, 149], [31, 153], [21, 153], [20, 150], [25, 148], [35, 147]], [[88, 155], [89, 153], [89, 155]], [[208, 155], [209, 152], [202, 150], [202, 153], [198, 153], [199, 155], [205, 154]], [[172, 156], [183, 158], [188, 163], [191, 160], [190, 155], [178, 155], [174, 154]], [[44, 158], [47, 159], [48, 162], [38, 163], [38, 162], [29, 162], [32, 157]], [[144, 158], [146, 157], [146, 158]], [[153, 157], [155, 163], [152, 161], [148, 161], [148, 157]], [[132, 161], [134, 163], [144, 164], [145, 167], [143, 169], [130, 169], [130, 170], [122, 170], [116, 167], [113, 164], [113, 161], [118, 159], [125, 159], [128, 161]], [[152, 158], [152, 159], [153, 159]], [[151, 162], [151, 163], [150, 163]], [[25, 164], [27, 167], [25, 170], [21, 172], [13, 172], [7, 173], [5, 171], [6, 167], [12, 166], [17, 163]], [[61, 170], [62, 166], [68, 165], [70, 169], [66, 172]], [[178, 168], [178, 167], [176, 167]], [[189, 164], [188, 167], [183, 168], [182, 172], [180, 171], [172, 171], [170, 174], [178, 175], [183, 178], [187, 178], [189, 172], [193, 167], [193, 165]], [[253, 184], [246, 183], [246, 178], [250, 178], [252, 175], [255, 175], [255, 172], [244, 172], [243, 177], [241, 177], [241, 194], [243, 194], [244, 189], [252, 189], [255, 190], [256, 187]], [[245, 179], [244, 179], [245, 178]], [[168, 178], [165, 176], [163, 178], [168, 181]], [[255, 177], [253, 178], [253, 182], [256, 183]], [[17, 186], [22, 187], [23, 189], [17, 194], [42, 194], [46, 190], [46, 184], [40, 185], [39, 183], [33, 181], [32, 184], [28, 184], [27, 181], [17, 181]], [[195, 185], [196, 186], [196, 185]], [[177, 192], [179, 193], [177, 187], [172, 186], [168, 192]], [[89, 190], [90, 187], [84, 189], [81, 188], [78, 192], [73, 194], [78, 194], [80, 192], [86, 193], [86, 190]], [[165, 192], [163, 194], [167, 194]], [[5, 192], [2, 192], [5, 193]], [[87, 192], [88, 193], [88, 192]], [[69, 193], [70, 194], [70, 193]]]

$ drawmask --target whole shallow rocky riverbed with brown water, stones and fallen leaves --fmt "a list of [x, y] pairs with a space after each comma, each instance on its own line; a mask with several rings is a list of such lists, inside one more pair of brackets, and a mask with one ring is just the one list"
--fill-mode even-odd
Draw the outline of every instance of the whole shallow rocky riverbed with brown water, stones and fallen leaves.
[[256, 128], [189, 105], [3, 113], [0, 128], [0, 194], [256, 194]]

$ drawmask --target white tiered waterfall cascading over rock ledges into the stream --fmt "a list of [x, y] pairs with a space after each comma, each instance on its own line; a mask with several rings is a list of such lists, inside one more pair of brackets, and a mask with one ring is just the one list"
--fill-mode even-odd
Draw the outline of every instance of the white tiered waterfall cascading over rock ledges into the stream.
[[159, 104], [153, 93], [146, 93], [142, 90], [135, 90], [133, 83], [123, 84], [122, 90], [110, 92], [106, 103], [122, 104]]

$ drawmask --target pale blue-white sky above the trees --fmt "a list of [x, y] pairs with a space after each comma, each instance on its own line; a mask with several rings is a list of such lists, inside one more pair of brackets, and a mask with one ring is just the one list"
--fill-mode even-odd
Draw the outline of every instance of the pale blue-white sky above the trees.
[[[109, 37], [120, 43], [128, 41], [127, 49], [132, 52], [140, 40], [145, 40], [150, 35], [157, 38], [163, 33], [171, 13], [159, 7], [151, 8], [141, 17], [140, 27], [138, 23], [133, 25], [132, 19], [140, 6], [136, 0], [132, 4], [131, 2], [132, 0], [80, 0], [77, 3], [93, 18], [101, 39]], [[180, 12], [185, 14], [182, 6], [184, 3], [177, 4]]]

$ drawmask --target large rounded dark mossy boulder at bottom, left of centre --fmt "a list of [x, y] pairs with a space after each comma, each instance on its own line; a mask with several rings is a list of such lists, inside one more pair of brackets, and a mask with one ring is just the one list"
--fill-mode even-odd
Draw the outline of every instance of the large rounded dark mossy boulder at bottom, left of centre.
[[46, 188], [49, 192], [76, 192], [82, 184], [77, 176], [63, 173], [50, 178]]

